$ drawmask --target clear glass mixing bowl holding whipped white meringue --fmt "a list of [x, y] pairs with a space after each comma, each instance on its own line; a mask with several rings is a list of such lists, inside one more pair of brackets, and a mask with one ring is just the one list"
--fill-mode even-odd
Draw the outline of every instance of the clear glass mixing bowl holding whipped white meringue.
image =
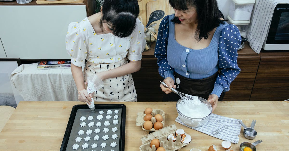
[[[196, 96], [198, 97], [198, 96]], [[186, 97], [188, 98], [188, 97]], [[201, 101], [201, 103], [205, 104], [208, 109], [210, 110], [210, 114], [205, 116], [205, 117], [202, 117], [202, 118], [193, 118], [193, 117], [188, 117], [184, 114], [182, 114], [179, 109], [178, 109], [178, 105], [180, 103], [184, 103], [184, 99], [180, 99], [177, 104], [176, 104], [176, 107], [177, 107], [177, 112], [178, 112], [178, 115], [179, 115], [179, 118], [181, 119], [181, 121], [186, 124], [187, 126], [191, 126], [191, 127], [198, 127], [198, 126], [201, 126], [203, 125], [207, 120], [208, 120], [208, 117], [212, 114], [212, 105], [204, 98], [202, 97], [198, 97], [198, 99]], [[186, 102], [186, 101], [185, 101]], [[185, 111], [182, 111], [183, 113]]]

